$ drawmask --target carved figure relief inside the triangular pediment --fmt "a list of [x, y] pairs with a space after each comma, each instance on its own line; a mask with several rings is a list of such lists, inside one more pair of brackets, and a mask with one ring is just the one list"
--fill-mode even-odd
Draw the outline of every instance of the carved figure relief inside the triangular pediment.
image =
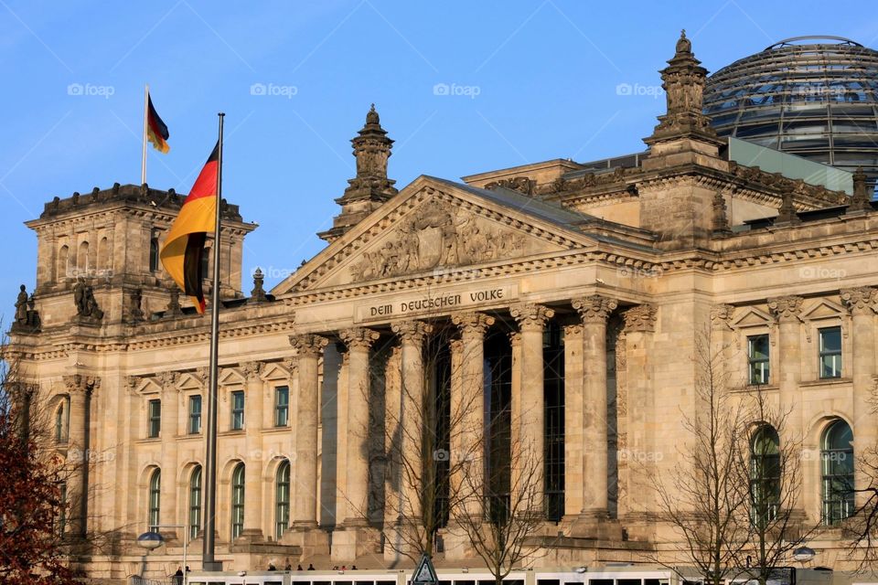
[[358, 281], [519, 256], [524, 236], [446, 203], [425, 202], [379, 250], [351, 268]]

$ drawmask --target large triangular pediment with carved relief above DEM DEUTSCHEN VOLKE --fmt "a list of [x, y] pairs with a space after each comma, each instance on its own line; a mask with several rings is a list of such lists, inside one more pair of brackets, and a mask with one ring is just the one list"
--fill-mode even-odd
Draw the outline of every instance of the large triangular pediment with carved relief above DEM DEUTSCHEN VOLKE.
[[595, 240], [574, 227], [582, 219], [508, 191], [422, 176], [278, 284], [273, 294], [453, 273], [594, 247]]

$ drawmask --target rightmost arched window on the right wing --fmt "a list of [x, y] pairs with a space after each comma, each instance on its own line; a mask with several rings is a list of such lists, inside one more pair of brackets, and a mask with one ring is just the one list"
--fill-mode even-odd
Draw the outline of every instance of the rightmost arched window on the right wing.
[[823, 524], [838, 524], [853, 514], [853, 431], [836, 420], [820, 441], [820, 472], [823, 487]]

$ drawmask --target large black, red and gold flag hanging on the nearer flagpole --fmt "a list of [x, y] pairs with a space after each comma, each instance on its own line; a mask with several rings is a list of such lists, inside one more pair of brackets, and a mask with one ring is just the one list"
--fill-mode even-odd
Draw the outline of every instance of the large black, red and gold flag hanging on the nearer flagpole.
[[204, 242], [213, 233], [217, 223], [217, 172], [219, 171], [219, 142], [213, 147], [208, 162], [198, 175], [195, 185], [180, 207], [174, 225], [167, 232], [165, 246], [159, 253], [162, 265], [177, 286], [183, 289], [199, 314], [204, 314], [204, 293], [201, 281], [201, 258]]

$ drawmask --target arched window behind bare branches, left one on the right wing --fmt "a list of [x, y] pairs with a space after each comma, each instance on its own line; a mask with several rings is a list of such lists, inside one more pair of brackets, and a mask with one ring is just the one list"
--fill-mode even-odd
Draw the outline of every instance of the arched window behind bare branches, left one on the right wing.
[[780, 505], [780, 438], [769, 424], [761, 426], [750, 441], [751, 521], [766, 527]]

